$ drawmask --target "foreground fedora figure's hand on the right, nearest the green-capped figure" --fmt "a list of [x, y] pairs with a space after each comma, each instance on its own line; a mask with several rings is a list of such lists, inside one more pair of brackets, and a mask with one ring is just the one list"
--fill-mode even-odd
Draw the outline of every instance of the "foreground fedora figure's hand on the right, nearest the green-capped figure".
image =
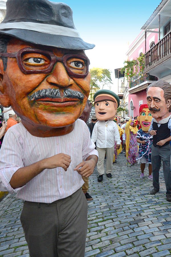
[[76, 170], [83, 177], [88, 178], [93, 173], [95, 165], [96, 165], [95, 161], [93, 159], [91, 159], [91, 160], [87, 160], [85, 162], [81, 162], [80, 164], [78, 164], [75, 167], [74, 170]]

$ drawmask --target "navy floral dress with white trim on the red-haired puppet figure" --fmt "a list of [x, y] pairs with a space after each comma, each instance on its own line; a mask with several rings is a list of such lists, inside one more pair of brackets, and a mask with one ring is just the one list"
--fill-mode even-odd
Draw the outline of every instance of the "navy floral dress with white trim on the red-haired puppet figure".
[[141, 141], [145, 141], [146, 144], [140, 144], [137, 160], [141, 163], [151, 164], [151, 145], [152, 137], [150, 134], [144, 132], [142, 128], [137, 131], [137, 138]]

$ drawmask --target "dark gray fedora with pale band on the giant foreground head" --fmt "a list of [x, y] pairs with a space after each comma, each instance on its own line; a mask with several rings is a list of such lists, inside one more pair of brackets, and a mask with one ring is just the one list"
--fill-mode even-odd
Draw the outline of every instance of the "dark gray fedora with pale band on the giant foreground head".
[[83, 41], [76, 30], [72, 9], [48, 0], [7, 0], [0, 34], [38, 45], [86, 50], [95, 45]]

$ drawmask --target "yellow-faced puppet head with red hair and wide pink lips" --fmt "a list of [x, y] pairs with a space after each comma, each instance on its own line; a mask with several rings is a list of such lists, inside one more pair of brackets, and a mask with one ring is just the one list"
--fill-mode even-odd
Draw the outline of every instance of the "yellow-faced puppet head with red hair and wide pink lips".
[[151, 125], [152, 116], [150, 114], [150, 111], [148, 109], [148, 105], [141, 105], [139, 110], [139, 116], [137, 117], [137, 120], [140, 123], [139, 128], [142, 128], [143, 131], [148, 131]]

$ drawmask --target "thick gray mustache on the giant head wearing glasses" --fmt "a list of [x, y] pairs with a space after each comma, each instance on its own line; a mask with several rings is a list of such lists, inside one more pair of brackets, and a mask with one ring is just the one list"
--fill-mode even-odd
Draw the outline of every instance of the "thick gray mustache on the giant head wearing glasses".
[[35, 93], [33, 93], [32, 95], [29, 95], [28, 96], [28, 99], [30, 101], [32, 100], [38, 100], [38, 99], [42, 99], [42, 98], [76, 98], [76, 99], [79, 99], [79, 100], [83, 100], [84, 99], [84, 95], [79, 92], [79, 91], [74, 91], [72, 89], [64, 89], [63, 90], [63, 97], [61, 97], [60, 95], [60, 90], [59, 89], [55, 89], [55, 88], [48, 88], [48, 89], [42, 89], [42, 90], [39, 90]]

